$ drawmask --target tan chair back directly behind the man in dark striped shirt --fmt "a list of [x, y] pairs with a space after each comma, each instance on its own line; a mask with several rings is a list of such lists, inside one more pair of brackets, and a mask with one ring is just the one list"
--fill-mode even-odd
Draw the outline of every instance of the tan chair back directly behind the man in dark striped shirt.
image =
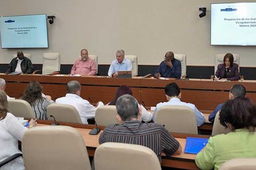
[[94, 154], [95, 170], [161, 170], [156, 154], [148, 147], [107, 142]]

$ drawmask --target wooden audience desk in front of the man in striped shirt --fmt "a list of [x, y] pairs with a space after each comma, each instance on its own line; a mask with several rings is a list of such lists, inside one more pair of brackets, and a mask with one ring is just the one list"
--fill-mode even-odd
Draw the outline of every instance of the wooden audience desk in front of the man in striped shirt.
[[[53, 121], [45, 121], [45, 120], [37, 120], [38, 126], [46, 126], [54, 123]], [[99, 144], [99, 136], [103, 132], [104, 126], [99, 126], [101, 131], [97, 135], [90, 135], [89, 132], [91, 129], [95, 128], [94, 125], [85, 125], [85, 124], [76, 124], [76, 123], [67, 123], [67, 122], [58, 122], [63, 126], [71, 126], [76, 128], [82, 135], [84, 142], [87, 147], [87, 152], [89, 156], [94, 156], [96, 148]], [[198, 169], [195, 164], [195, 154], [184, 153], [184, 148], [186, 145], [187, 137], [199, 137], [199, 138], [209, 138], [207, 135], [196, 135], [196, 134], [187, 134], [187, 133], [174, 133], [170, 132], [172, 136], [175, 137], [176, 140], [179, 141], [182, 147], [181, 154], [175, 154], [171, 157], [167, 157], [165, 154], [162, 154], [162, 163], [163, 167], [171, 167], [171, 168], [181, 168], [181, 169]]]

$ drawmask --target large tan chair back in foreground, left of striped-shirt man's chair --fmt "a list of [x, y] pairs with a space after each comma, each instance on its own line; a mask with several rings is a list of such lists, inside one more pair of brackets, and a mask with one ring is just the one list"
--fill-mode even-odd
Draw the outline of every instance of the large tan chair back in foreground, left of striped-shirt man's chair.
[[26, 170], [91, 170], [84, 139], [69, 126], [29, 128], [22, 154]]

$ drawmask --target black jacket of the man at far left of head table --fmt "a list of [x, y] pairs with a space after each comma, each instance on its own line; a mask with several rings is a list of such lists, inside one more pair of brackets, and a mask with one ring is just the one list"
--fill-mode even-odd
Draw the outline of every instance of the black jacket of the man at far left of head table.
[[[8, 65], [8, 69], [7, 69], [7, 73], [12, 73], [15, 71], [16, 67], [17, 67], [17, 57], [13, 58], [12, 61], [10, 62], [10, 64]], [[34, 67], [32, 65], [32, 62], [30, 61], [29, 58], [24, 57], [23, 61], [21, 62], [21, 71], [24, 74], [31, 74], [34, 70]]]

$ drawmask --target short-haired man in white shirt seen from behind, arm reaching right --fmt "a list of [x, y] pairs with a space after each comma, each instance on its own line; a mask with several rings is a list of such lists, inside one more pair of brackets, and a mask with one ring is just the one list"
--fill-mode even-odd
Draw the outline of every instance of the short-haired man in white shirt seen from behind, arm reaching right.
[[56, 103], [69, 104], [76, 108], [83, 124], [88, 124], [87, 119], [95, 117], [95, 111], [98, 107], [104, 105], [101, 101], [98, 102], [97, 108], [80, 97], [81, 85], [78, 81], [70, 81], [67, 83], [67, 94], [65, 97], [57, 98]]

